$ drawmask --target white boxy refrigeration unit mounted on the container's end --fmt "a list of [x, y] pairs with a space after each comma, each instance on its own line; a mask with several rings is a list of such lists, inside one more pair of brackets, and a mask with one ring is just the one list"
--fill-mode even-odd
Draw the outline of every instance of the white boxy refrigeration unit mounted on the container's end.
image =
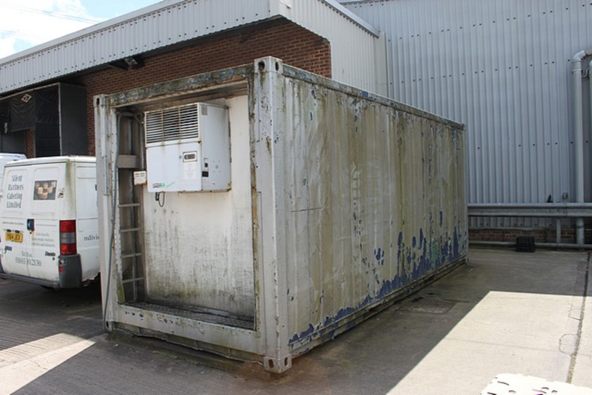
[[144, 115], [149, 192], [230, 190], [227, 108], [192, 103]]

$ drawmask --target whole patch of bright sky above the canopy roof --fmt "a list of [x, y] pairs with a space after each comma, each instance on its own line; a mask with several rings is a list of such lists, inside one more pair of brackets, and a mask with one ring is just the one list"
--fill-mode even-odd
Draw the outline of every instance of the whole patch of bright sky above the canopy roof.
[[0, 0], [0, 58], [158, 0]]

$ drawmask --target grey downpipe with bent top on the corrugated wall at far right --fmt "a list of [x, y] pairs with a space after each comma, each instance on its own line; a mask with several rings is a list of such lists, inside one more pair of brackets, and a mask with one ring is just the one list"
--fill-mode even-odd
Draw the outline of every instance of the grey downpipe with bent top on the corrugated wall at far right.
[[[580, 51], [572, 59], [572, 103], [574, 105], [574, 178], [575, 201], [584, 203], [584, 123], [582, 114], [582, 60], [592, 48]], [[584, 244], [584, 219], [575, 220], [575, 242]]]

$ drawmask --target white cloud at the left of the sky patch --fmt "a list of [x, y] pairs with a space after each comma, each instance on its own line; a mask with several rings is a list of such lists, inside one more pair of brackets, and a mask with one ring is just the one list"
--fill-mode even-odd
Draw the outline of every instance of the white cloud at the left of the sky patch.
[[80, 0], [0, 0], [0, 58], [98, 22]]

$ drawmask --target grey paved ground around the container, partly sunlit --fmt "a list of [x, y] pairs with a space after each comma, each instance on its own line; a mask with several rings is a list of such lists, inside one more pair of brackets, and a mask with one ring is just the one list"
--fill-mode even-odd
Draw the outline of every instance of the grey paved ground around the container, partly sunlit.
[[107, 336], [98, 286], [0, 280], [0, 394], [478, 394], [503, 373], [592, 387], [589, 275], [587, 252], [472, 249], [282, 375]]

